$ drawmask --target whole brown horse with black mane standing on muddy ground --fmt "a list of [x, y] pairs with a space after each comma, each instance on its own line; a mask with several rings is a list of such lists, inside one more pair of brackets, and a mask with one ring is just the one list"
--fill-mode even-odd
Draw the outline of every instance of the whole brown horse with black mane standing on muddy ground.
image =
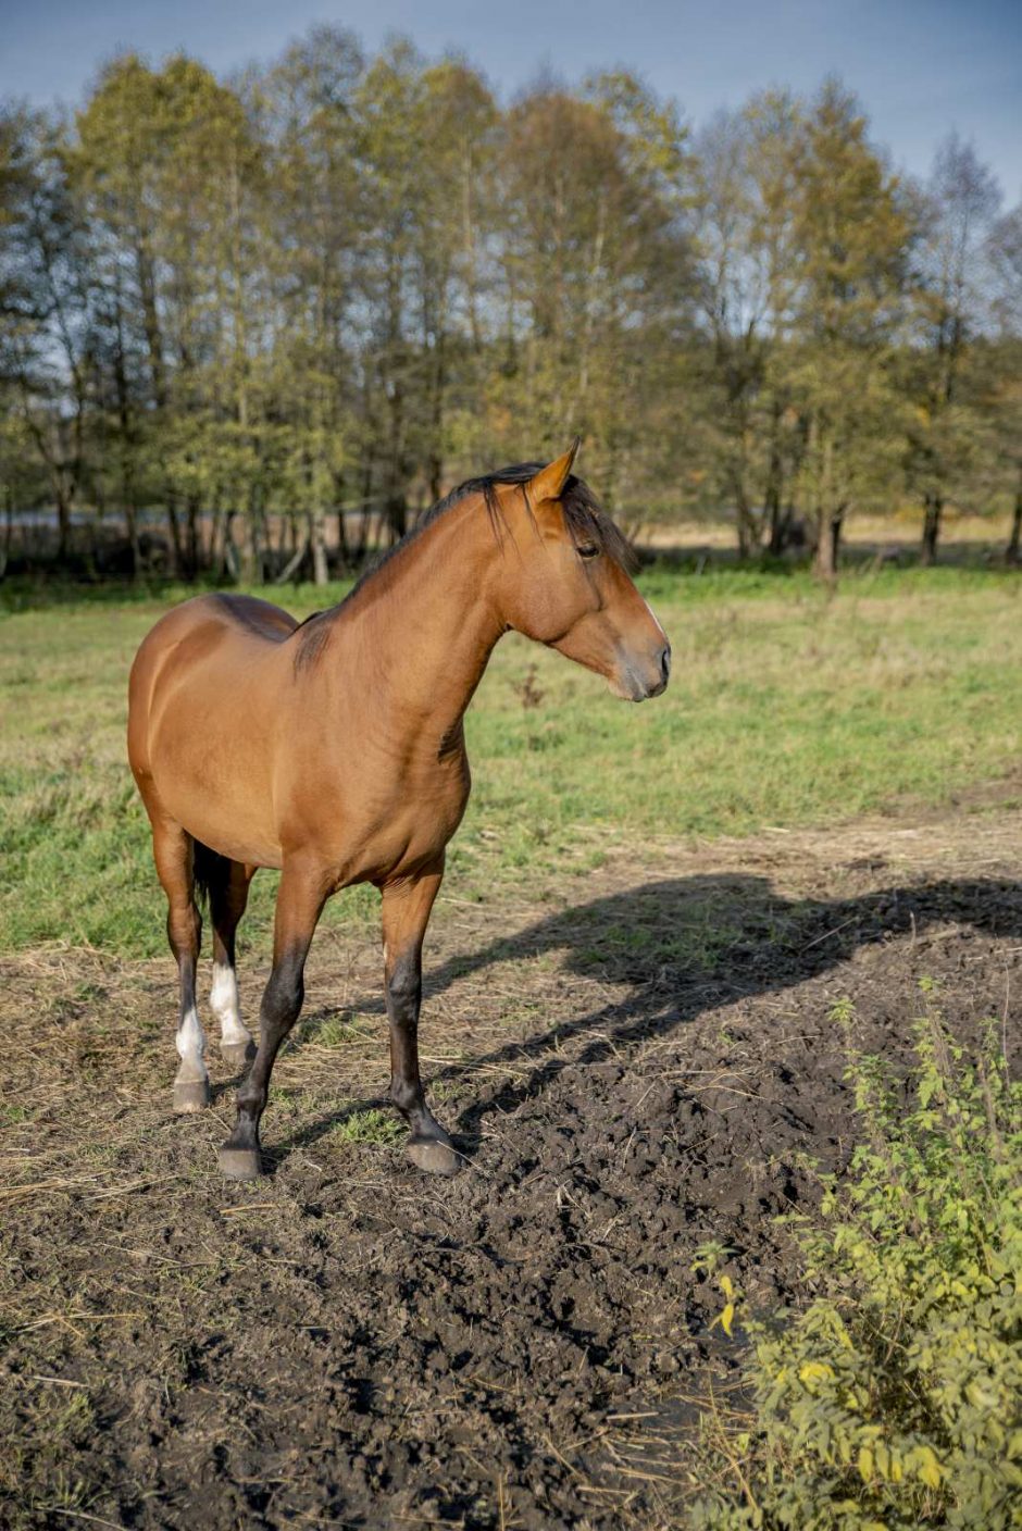
[[422, 937], [468, 801], [465, 709], [511, 628], [629, 701], [659, 695], [670, 672], [664, 629], [626, 573], [627, 544], [571, 473], [577, 446], [546, 467], [464, 484], [340, 606], [301, 625], [249, 596], [199, 596], [138, 651], [129, 758], [181, 977], [179, 1112], [210, 1101], [196, 886], [210, 899], [220, 1047], [240, 1067], [252, 1038], [234, 931], [255, 870], [282, 871], [259, 1052], [220, 1150], [228, 1176], [259, 1174], [269, 1072], [301, 1009], [312, 932], [330, 894], [356, 882], [382, 894], [390, 1099], [408, 1154], [421, 1170], [459, 1167], [425, 1104], [418, 1023]]

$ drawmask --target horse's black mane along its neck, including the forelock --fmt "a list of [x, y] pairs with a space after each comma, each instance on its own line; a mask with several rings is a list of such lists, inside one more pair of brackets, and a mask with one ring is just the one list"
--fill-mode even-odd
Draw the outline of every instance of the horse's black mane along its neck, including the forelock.
[[[522, 490], [522, 498], [525, 499], [529, 514], [532, 514], [528, 495], [525, 493], [525, 485], [529, 479], [535, 478], [543, 467], [543, 462], [516, 462], [511, 467], [497, 468], [496, 473], [483, 473], [480, 478], [465, 479], [464, 484], [453, 488], [450, 495], [444, 496], [444, 499], [438, 499], [436, 505], [431, 505], [425, 514], [419, 516], [412, 531], [405, 533], [399, 542], [395, 542], [392, 548], [387, 548], [386, 553], [370, 563], [370, 566], [349, 589], [344, 600], [338, 602], [337, 606], [327, 606], [326, 611], [315, 611], [295, 628], [292, 634], [297, 643], [295, 669], [308, 669], [315, 664], [323, 648], [326, 646], [334, 617], [337, 617], [370, 580], [375, 580], [379, 571], [386, 568], [398, 553], [421, 537], [422, 533], [431, 527], [435, 521], [439, 521], [445, 511], [451, 510], [454, 505], [461, 505], [464, 499], [468, 499], [471, 495], [482, 496], [493, 534], [497, 542], [502, 542], [508, 527], [497, 490], [506, 485], [517, 485]], [[627, 537], [618, 527], [615, 527], [607, 513], [600, 507], [600, 502], [584, 479], [575, 478], [574, 473], [569, 473], [565, 488], [561, 490], [560, 504], [565, 511], [565, 521], [568, 522], [568, 531], [577, 547], [581, 547], [583, 544], [595, 544], [600, 551], [614, 559], [615, 563], [620, 563], [623, 568], [633, 566], [635, 554]]]

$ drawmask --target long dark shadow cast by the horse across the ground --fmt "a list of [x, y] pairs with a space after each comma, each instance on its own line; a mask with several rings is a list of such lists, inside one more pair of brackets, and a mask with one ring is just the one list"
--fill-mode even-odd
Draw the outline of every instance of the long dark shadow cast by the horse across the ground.
[[[766, 997], [815, 978], [864, 946], [923, 939], [947, 923], [1022, 939], [1022, 883], [947, 879], [849, 899], [785, 899], [765, 877], [701, 874], [610, 893], [427, 971], [427, 1027], [431, 998], [500, 963], [558, 955], [568, 974], [595, 978], [610, 991], [606, 1003], [574, 1020], [558, 1018], [465, 1063], [441, 1066], [428, 1082], [477, 1081], [480, 1064], [514, 1066], [513, 1075], [477, 1093], [450, 1124], [471, 1157], [488, 1116], [540, 1093], [568, 1064], [607, 1061], [737, 998]], [[382, 1001], [367, 1009], [382, 1012]], [[575, 1046], [566, 1049], [566, 1043]], [[308, 1148], [353, 1113], [379, 1104], [379, 1095], [346, 1102], [292, 1133], [280, 1153]]]

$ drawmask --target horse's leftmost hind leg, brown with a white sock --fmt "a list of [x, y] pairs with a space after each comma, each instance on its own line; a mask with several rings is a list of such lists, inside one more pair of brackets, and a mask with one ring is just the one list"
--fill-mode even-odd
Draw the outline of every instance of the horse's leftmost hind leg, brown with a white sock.
[[153, 819], [153, 859], [167, 894], [167, 935], [181, 980], [176, 1036], [181, 1066], [174, 1075], [174, 1110], [200, 1112], [210, 1104], [210, 1075], [205, 1066], [207, 1040], [196, 1009], [202, 920], [194, 900], [191, 836], [171, 819]]

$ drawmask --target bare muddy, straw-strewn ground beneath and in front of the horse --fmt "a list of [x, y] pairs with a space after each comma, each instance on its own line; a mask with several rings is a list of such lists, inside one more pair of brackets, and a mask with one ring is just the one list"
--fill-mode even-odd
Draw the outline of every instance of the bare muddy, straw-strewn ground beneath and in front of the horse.
[[[405, 1164], [375, 935], [327, 931], [231, 1185], [174, 1118], [170, 961], [47, 949], [0, 989], [0, 1523], [659, 1528], [733, 1372], [693, 1274], [797, 1300], [776, 1214], [852, 1142], [835, 1000], [904, 1058], [1022, 997], [1022, 813], [620, 851], [438, 905], [424, 1053], [467, 1156]], [[257, 968], [242, 975], [255, 1010]]]

